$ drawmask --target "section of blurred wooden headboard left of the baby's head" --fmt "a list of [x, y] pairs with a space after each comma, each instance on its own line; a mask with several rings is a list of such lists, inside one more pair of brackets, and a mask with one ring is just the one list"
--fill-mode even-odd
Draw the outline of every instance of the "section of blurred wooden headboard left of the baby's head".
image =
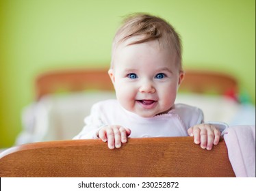
[[106, 68], [53, 70], [36, 78], [36, 100], [64, 89], [69, 92], [100, 89], [114, 91]]

